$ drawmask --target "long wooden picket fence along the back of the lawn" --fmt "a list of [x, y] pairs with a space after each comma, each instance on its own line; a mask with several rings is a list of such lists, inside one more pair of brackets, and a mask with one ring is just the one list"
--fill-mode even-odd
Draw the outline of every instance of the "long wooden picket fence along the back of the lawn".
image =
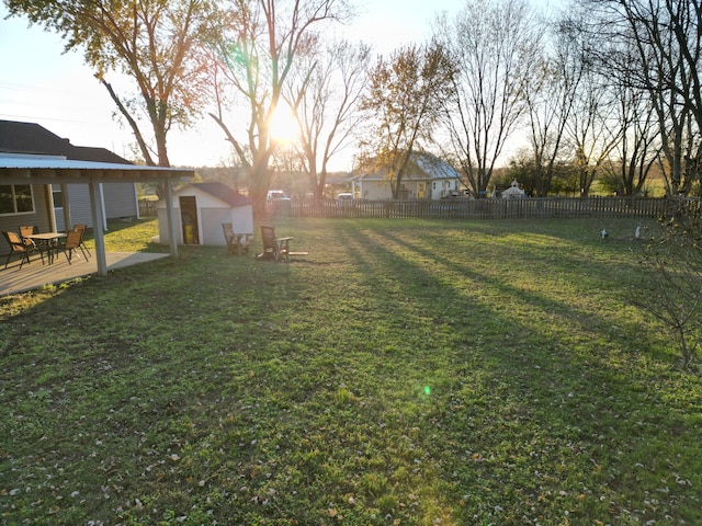
[[543, 197], [450, 201], [283, 201], [268, 206], [275, 217], [516, 219], [657, 217], [670, 199], [648, 197]]

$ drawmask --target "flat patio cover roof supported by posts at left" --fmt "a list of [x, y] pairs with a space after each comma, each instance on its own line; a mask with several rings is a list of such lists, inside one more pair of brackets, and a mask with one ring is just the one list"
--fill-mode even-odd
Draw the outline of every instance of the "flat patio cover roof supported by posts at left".
[[0, 184], [155, 183], [189, 181], [193, 170], [75, 161], [60, 157], [0, 156]]

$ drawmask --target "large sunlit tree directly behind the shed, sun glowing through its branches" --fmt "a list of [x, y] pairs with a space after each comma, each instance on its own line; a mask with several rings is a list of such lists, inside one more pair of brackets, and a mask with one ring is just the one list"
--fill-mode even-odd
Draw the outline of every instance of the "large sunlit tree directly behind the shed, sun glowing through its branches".
[[[350, 14], [346, 0], [229, 2], [222, 19], [222, 36], [215, 46], [217, 107], [216, 113], [210, 115], [249, 171], [249, 196], [256, 215], [264, 210], [272, 178], [269, 161], [280, 146], [271, 123], [297, 59], [312, 54], [319, 45], [319, 34], [314, 31], [317, 26], [346, 20]], [[244, 140], [238, 139], [237, 130], [225, 122], [227, 90], [234, 92], [230, 99], [244, 101], [249, 112]]]

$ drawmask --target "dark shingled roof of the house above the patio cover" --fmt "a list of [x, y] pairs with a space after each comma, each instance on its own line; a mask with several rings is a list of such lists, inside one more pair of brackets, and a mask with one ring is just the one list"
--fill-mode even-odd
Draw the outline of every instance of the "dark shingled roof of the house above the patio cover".
[[73, 146], [70, 140], [59, 137], [38, 124], [16, 121], [0, 121], [0, 153], [63, 156], [72, 161], [132, 164], [105, 148]]

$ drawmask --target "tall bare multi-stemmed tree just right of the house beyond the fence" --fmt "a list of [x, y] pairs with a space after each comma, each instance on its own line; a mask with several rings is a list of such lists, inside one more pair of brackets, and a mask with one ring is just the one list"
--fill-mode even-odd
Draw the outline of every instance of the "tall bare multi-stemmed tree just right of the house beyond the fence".
[[439, 32], [460, 68], [444, 113], [451, 157], [479, 196], [523, 115], [540, 35], [523, 0], [468, 1], [452, 25], [440, 21]]

